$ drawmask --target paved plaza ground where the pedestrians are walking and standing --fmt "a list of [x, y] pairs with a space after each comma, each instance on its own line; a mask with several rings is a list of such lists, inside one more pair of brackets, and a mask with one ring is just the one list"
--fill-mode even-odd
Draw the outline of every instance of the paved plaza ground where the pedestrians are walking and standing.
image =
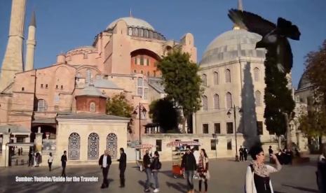
[[[159, 173], [161, 192], [186, 192], [186, 181], [182, 178], [173, 178], [171, 162], [162, 163]], [[244, 192], [245, 171], [248, 162], [233, 162], [231, 159], [210, 159], [211, 179], [208, 183], [208, 192]], [[300, 166], [283, 166], [279, 173], [271, 175], [276, 193], [304, 193], [317, 192], [315, 184], [315, 160]], [[15, 182], [16, 176], [60, 176], [61, 168], [55, 167], [51, 172], [47, 167], [29, 168], [27, 166], [13, 166], [0, 169], [0, 192], [144, 192], [146, 175], [137, 170], [135, 163], [130, 163], [125, 172], [126, 187], [119, 188], [118, 164], [112, 164], [109, 171], [109, 188], [100, 189], [102, 170], [99, 166], [67, 166], [67, 176], [98, 177], [98, 182], [74, 183], [22, 183]], [[93, 178], [94, 179], [94, 178]], [[198, 190], [198, 181], [195, 180]], [[153, 188], [151, 188], [151, 192]]]

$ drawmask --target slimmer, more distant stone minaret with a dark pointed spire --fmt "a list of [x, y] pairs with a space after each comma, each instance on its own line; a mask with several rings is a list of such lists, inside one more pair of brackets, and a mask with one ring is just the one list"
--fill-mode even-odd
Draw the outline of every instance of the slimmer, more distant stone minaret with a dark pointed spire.
[[35, 32], [36, 32], [36, 20], [35, 12], [33, 12], [32, 20], [28, 27], [28, 38], [27, 38], [27, 51], [25, 58], [25, 71], [34, 69], [34, 52], [35, 52]]

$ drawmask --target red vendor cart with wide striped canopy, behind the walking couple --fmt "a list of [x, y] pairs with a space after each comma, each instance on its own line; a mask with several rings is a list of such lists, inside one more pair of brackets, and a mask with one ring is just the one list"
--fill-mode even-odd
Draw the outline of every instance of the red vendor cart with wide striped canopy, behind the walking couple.
[[182, 156], [186, 152], [186, 145], [201, 145], [197, 141], [171, 141], [167, 147], [172, 148], [172, 175], [174, 178], [183, 177], [184, 173], [181, 168]]

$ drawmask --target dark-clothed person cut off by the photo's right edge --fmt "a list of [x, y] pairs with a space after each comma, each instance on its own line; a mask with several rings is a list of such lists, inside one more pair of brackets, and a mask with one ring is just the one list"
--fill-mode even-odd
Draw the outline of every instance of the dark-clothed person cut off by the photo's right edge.
[[316, 178], [320, 193], [326, 193], [326, 145], [322, 148], [322, 155], [318, 157]]

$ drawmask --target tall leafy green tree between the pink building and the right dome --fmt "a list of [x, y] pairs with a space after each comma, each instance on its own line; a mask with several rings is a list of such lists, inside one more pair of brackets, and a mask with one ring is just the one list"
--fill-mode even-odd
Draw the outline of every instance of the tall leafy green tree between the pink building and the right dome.
[[199, 67], [189, 59], [189, 53], [172, 50], [157, 64], [168, 98], [182, 110], [182, 132], [186, 129], [186, 119], [201, 108], [203, 94], [201, 78], [197, 74]]

